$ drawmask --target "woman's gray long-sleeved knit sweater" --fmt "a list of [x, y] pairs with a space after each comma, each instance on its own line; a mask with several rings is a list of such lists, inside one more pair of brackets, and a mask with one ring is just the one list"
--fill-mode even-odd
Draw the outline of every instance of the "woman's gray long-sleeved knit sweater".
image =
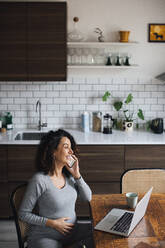
[[[76, 221], [75, 202], [79, 196], [84, 201], [91, 200], [91, 190], [83, 178], [75, 180], [66, 177], [65, 186], [58, 189], [49, 175], [36, 173], [30, 180], [19, 209], [19, 218], [29, 224], [45, 226], [47, 219], [69, 217]], [[38, 204], [39, 213], [32, 213]]]

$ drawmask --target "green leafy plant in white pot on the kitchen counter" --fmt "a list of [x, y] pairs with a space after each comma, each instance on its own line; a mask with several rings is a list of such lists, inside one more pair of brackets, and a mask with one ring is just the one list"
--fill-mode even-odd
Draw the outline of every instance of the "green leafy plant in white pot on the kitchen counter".
[[[106, 102], [110, 98], [111, 93], [109, 91], [106, 91], [102, 97], [102, 101]], [[131, 93], [128, 94], [127, 98], [123, 101], [114, 101], [113, 107], [115, 108], [116, 111], [122, 110], [124, 114], [124, 122], [133, 122], [135, 119], [133, 118], [134, 112], [131, 112], [128, 109], [128, 104], [131, 103], [133, 100], [133, 96]], [[137, 117], [141, 120], [144, 120], [144, 114], [142, 109], [138, 109], [137, 111]], [[116, 121], [117, 122], [117, 121]], [[116, 123], [117, 126], [117, 123]], [[120, 123], [121, 126], [121, 123]], [[137, 125], [138, 127], [138, 125]]]

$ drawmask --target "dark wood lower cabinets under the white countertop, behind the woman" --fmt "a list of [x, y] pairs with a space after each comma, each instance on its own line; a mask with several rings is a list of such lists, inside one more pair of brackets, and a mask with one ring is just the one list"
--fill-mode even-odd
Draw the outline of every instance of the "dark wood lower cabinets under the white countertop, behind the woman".
[[[119, 193], [130, 168], [165, 168], [164, 145], [79, 145], [80, 171], [93, 194]], [[9, 198], [35, 173], [36, 145], [0, 146], [0, 218], [11, 216]]]

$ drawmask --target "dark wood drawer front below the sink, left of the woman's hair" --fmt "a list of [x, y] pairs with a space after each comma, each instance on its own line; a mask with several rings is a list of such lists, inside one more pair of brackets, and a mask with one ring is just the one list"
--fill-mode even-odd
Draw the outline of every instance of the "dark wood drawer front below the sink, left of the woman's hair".
[[8, 147], [8, 180], [24, 182], [35, 172], [35, 155], [37, 146]]

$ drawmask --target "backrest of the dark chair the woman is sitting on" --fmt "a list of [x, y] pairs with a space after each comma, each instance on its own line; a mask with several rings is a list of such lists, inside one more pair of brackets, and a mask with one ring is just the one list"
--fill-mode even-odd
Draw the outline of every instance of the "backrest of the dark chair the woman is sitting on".
[[29, 224], [21, 221], [18, 218], [18, 210], [19, 210], [20, 204], [22, 202], [26, 187], [27, 187], [27, 184], [19, 185], [12, 192], [11, 197], [10, 197], [10, 205], [11, 205], [11, 209], [12, 209], [12, 212], [14, 215], [19, 248], [24, 247], [24, 243], [26, 242], [26, 239], [27, 239], [27, 231], [30, 227]]

